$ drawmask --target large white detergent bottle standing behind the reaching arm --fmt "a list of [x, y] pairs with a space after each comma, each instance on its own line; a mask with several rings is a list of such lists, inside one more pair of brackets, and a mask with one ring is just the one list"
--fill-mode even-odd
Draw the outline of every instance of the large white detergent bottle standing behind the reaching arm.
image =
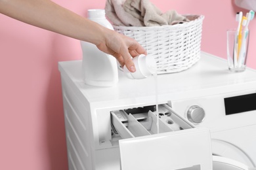
[[[106, 20], [104, 9], [88, 10], [88, 19], [114, 30]], [[85, 84], [91, 86], [114, 86], [118, 82], [117, 61], [89, 42], [81, 41], [83, 51], [82, 75]]]

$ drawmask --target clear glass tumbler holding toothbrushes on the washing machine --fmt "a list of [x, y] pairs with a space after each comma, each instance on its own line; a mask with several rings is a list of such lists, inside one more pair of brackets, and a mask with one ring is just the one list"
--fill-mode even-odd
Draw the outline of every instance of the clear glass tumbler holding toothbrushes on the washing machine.
[[245, 71], [249, 45], [249, 30], [239, 33], [236, 29], [228, 29], [226, 35], [228, 69], [232, 72]]

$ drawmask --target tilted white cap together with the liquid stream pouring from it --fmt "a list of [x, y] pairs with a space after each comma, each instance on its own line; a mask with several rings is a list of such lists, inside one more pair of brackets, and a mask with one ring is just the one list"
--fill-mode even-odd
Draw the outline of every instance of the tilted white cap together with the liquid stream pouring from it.
[[157, 116], [157, 131], [159, 131], [159, 111], [158, 111], [158, 74], [156, 60], [153, 56], [145, 56], [140, 54], [139, 56], [133, 58], [133, 63], [135, 63], [136, 71], [131, 73], [126, 66], [123, 67], [123, 72], [128, 78], [131, 79], [142, 79], [148, 76], [154, 76], [155, 92], [156, 92], [156, 116]]

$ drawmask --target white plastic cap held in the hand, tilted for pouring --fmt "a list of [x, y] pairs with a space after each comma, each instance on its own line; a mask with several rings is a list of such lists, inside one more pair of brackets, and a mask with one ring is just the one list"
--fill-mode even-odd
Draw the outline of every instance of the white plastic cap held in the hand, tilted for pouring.
[[142, 79], [148, 76], [156, 74], [156, 60], [153, 56], [145, 56], [140, 54], [133, 58], [133, 63], [135, 63], [136, 71], [131, 73], [126, 66], [123, 67], [123, 72], [128, 78], [131, 79]]

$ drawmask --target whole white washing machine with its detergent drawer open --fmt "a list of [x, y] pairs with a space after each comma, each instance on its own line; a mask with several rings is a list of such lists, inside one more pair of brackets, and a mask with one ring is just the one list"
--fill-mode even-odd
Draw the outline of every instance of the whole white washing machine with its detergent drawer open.
[[81, 61], [59, 70], [70, 170], [255, 169], [255, 70], [205, 52], [181, 73], [120, 72], [111, 88], [84, 84]]

